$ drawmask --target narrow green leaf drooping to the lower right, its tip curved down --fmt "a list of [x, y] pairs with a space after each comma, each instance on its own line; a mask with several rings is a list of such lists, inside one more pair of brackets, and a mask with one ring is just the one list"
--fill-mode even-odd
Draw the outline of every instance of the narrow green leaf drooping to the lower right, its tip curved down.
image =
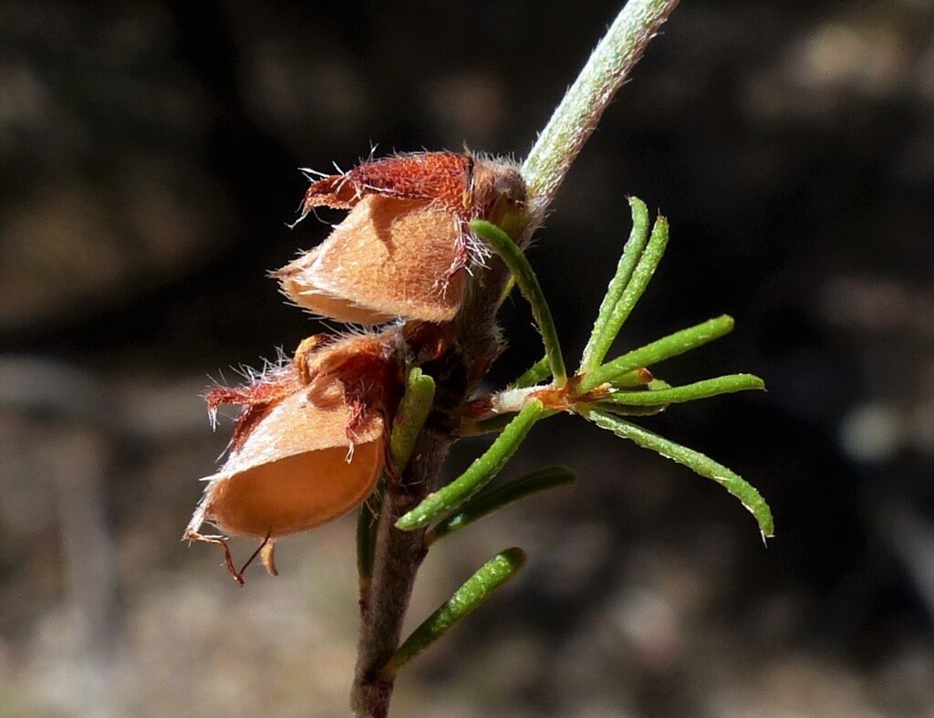
[[699, 451], [694, 451], [694, 449], [689, 449], [680, 443], [674, 443], [647, 429], [630, 424], [630, 422], [618, 416], [604, 414], [597, 410], [584, 411], [583, 415], [601, 429], [613, 431], [616, 436], [638, 443], [640, 446], [651, 449], [665, 458], [683, 464], [692, 472], [704, 478], [714, 480], [739, 499], [743, 506], [756, 517], [763, 539], [774, 536], [774, 523], [769, 504], [765, 502], [762, 495], [752, 485], [736, 472], [730, 471], [723, 464], [704, 456]]

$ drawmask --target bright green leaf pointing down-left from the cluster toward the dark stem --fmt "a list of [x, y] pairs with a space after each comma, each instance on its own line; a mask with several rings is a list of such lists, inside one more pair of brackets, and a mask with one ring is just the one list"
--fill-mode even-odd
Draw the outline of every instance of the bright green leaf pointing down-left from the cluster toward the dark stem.
[[492, 481], [506, 462], [516, 453], [519, 444], [529, 434], [534, 423], [542, 417], [544, 408], [542, 402], [530, 401], [519, 412], [509, 425], [502, 429], [502, 434], [496, 437], [483, 456], [476, 458], [466, 472], [447, 486], [443, 486], [429, 494], [412, 511], [403, 515], [396, 522], [396, 528], [411, 531], [423, 528], [432, 521], [450, 514], [458, 509], [465, 501]]

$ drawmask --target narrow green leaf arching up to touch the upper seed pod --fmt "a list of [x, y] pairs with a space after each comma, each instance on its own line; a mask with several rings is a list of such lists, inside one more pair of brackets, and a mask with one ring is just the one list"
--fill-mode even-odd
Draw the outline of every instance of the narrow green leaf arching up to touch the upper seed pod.
[[542, 342], [545, 344], [545, 357], [548, 358], [548, 367], [551, 375], [555, 377], [555, 386], [563, 387], [568, 380], [567, 370], [564, 368], [564, 358], [561, 356], [561, 345], [558, 341], [558, 331], [555, 321], [551, 317], [551, 309], [545, 301], [542, 286], [538, 277], [531, 269], [529, 260], [525, 258], [522, 250], [506, 232], [503, 232], [492, 222], [475, 219], [470, 228], [478, 237], [492, 246], [502, 260], [506, 263], [510, 273], [516, 277], [516, 284], [526, 301], [531, 304], [531, 313], [535, 323], [542, 331]]

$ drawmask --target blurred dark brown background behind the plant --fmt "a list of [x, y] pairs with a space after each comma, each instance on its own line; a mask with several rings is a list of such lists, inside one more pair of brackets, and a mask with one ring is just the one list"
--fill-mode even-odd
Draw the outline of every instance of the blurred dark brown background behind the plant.
[[[230, 426], [199, 393], [320, 330], [265, 276], [327, 232], [286, 227], [298, 166], [521, 157], [616, 7], [0, 2], [0, 715], [347, 713], [353, 518], [245, 588], [179, 542]], [[934, 5], [687, 0], [530, 253], [572, 354], [630, 193], [672, 244], [620, 347], [727, 312], [661, 375], [771, 389], [644, 424], [753, 481], [777, 536], [552, 419], [507, 476], [578, 484], [432, 552], [414, 619], [506, 546], [530, 563], [395, 714], [934, 715]], [[491, 388], [541, 353], [523, 303], [502, 324]]]

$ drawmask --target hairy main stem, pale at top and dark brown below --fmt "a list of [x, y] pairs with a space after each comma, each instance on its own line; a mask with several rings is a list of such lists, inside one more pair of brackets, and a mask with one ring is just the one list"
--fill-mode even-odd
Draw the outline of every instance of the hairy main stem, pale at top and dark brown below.
[[[603, 110], [677, 4], [677, 0], [630, 0], [565, 94], [522, 167], [529, 185], [531, 215], [520, 246], [526, 246], [531, 233], [542, 223], [548, 205]], [[474, 281], [479, 286], [468, 293], [456, 319], [457, 356], [443, 359], [447, 373], [432, 374], [437, 377], [438, 396], [446, 397], [446, 403], [465, 401], [479, 379], [473, 373], [474, 367], [488, 365], [502, 349], [495, 318], [509, 273], [497, 261], [478, 274]], [[395, 676], [381, 675], [380, 671], [399, 647], [412, 585], [425, 557], [424, 530], [401, 531], [394, 525], [437, 487], [453, 441], [453, 431], [423, 430], [402, 479], [390, 482], [383, 497], [351, 693], [353, 709], [363, 718], [384, 718], [389, 714]]]

